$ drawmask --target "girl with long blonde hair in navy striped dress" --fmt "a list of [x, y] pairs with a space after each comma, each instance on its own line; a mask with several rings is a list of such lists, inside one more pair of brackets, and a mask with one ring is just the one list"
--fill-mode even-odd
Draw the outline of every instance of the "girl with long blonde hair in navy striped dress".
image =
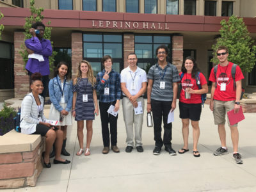
[[92, 66], [88, 61], [81, 61], [77, 70], [77, 75], [73, 81], [73, 109], [72, 115], [77, 121], [77, 138], [79, 141], [79, 151], [76, 155], [83, 153], [83, 129], [86, 120], [86, 148], [84, 156], [90, 155], [90, 144], [92, 141], [92, 120], [95, 115], [99, 115], [99, 107], [96, 93], [96, 79], [93, 76]]

